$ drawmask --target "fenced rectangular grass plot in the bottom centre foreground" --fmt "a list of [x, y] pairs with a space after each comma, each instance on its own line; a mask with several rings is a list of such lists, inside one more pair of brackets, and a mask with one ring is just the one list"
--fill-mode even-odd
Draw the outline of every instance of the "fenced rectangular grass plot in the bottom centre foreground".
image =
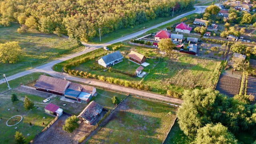
[[176, 108], [133, 96], [125, 101], [126, 106], [88, 140], [89, 144], [162, 143], [176, 117]]

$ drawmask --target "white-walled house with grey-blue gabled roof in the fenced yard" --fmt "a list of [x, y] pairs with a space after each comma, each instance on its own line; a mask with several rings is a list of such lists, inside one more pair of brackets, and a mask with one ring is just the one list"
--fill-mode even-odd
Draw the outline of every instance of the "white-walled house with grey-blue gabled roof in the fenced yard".
[[123, 56], [119, 51], [113, 52], [111, 54], [107, 54], [106, 56], [102, 56], [98, 60], [98, 64], [108, 68], [110, 66], [114, 66], [115, 64], [123, 61]]

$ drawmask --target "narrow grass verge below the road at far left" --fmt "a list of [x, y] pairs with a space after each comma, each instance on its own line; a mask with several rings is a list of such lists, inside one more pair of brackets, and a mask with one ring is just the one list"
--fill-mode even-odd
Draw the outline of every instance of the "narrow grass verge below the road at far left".
[[[28, 74], [28, 75], [20, 77], [20, 78], [16, 78], [15, 80], [10, 80], [10, 81], [8, 81], [8, 83], [11, 88], [16, 88], [16, 87], [20, 86], [20, 83], [26, 84], [26, 83], [28, 83], [28, 81], [31, 82], [33, 80], [37, 80], [41, 74], [44, 74], [44, 73], [35, 72], [35, 73]], [[5, 92], [6, 90], [8, 90], [7, 84], [6, 83], [0, 84], [0, 93]]]

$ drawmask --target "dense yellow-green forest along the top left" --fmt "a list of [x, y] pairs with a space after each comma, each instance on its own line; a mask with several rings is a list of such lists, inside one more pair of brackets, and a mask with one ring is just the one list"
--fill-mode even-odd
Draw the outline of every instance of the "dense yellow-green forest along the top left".
[[193, 8], [194, 0], [0, 0], [0, 26], [66, 34], [74, 40], [133, 27], [156, 17]]

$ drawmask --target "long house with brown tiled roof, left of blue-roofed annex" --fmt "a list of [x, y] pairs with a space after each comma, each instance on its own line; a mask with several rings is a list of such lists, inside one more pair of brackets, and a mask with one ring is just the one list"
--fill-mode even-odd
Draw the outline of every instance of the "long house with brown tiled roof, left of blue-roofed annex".
[[41, 75], [34, 86], [36, 90], [62, 96], [70, 83], [68, 80]]

